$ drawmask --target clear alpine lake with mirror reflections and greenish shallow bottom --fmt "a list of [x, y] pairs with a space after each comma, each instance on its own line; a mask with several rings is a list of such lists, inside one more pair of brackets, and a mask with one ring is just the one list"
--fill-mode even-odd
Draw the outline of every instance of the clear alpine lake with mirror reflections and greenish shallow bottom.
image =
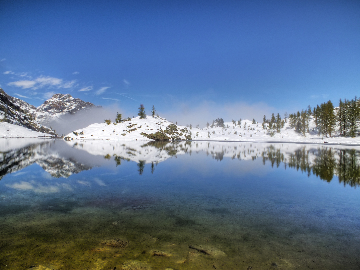
[[0, 269], [360, 269], [360, 147], [0, 140]]

